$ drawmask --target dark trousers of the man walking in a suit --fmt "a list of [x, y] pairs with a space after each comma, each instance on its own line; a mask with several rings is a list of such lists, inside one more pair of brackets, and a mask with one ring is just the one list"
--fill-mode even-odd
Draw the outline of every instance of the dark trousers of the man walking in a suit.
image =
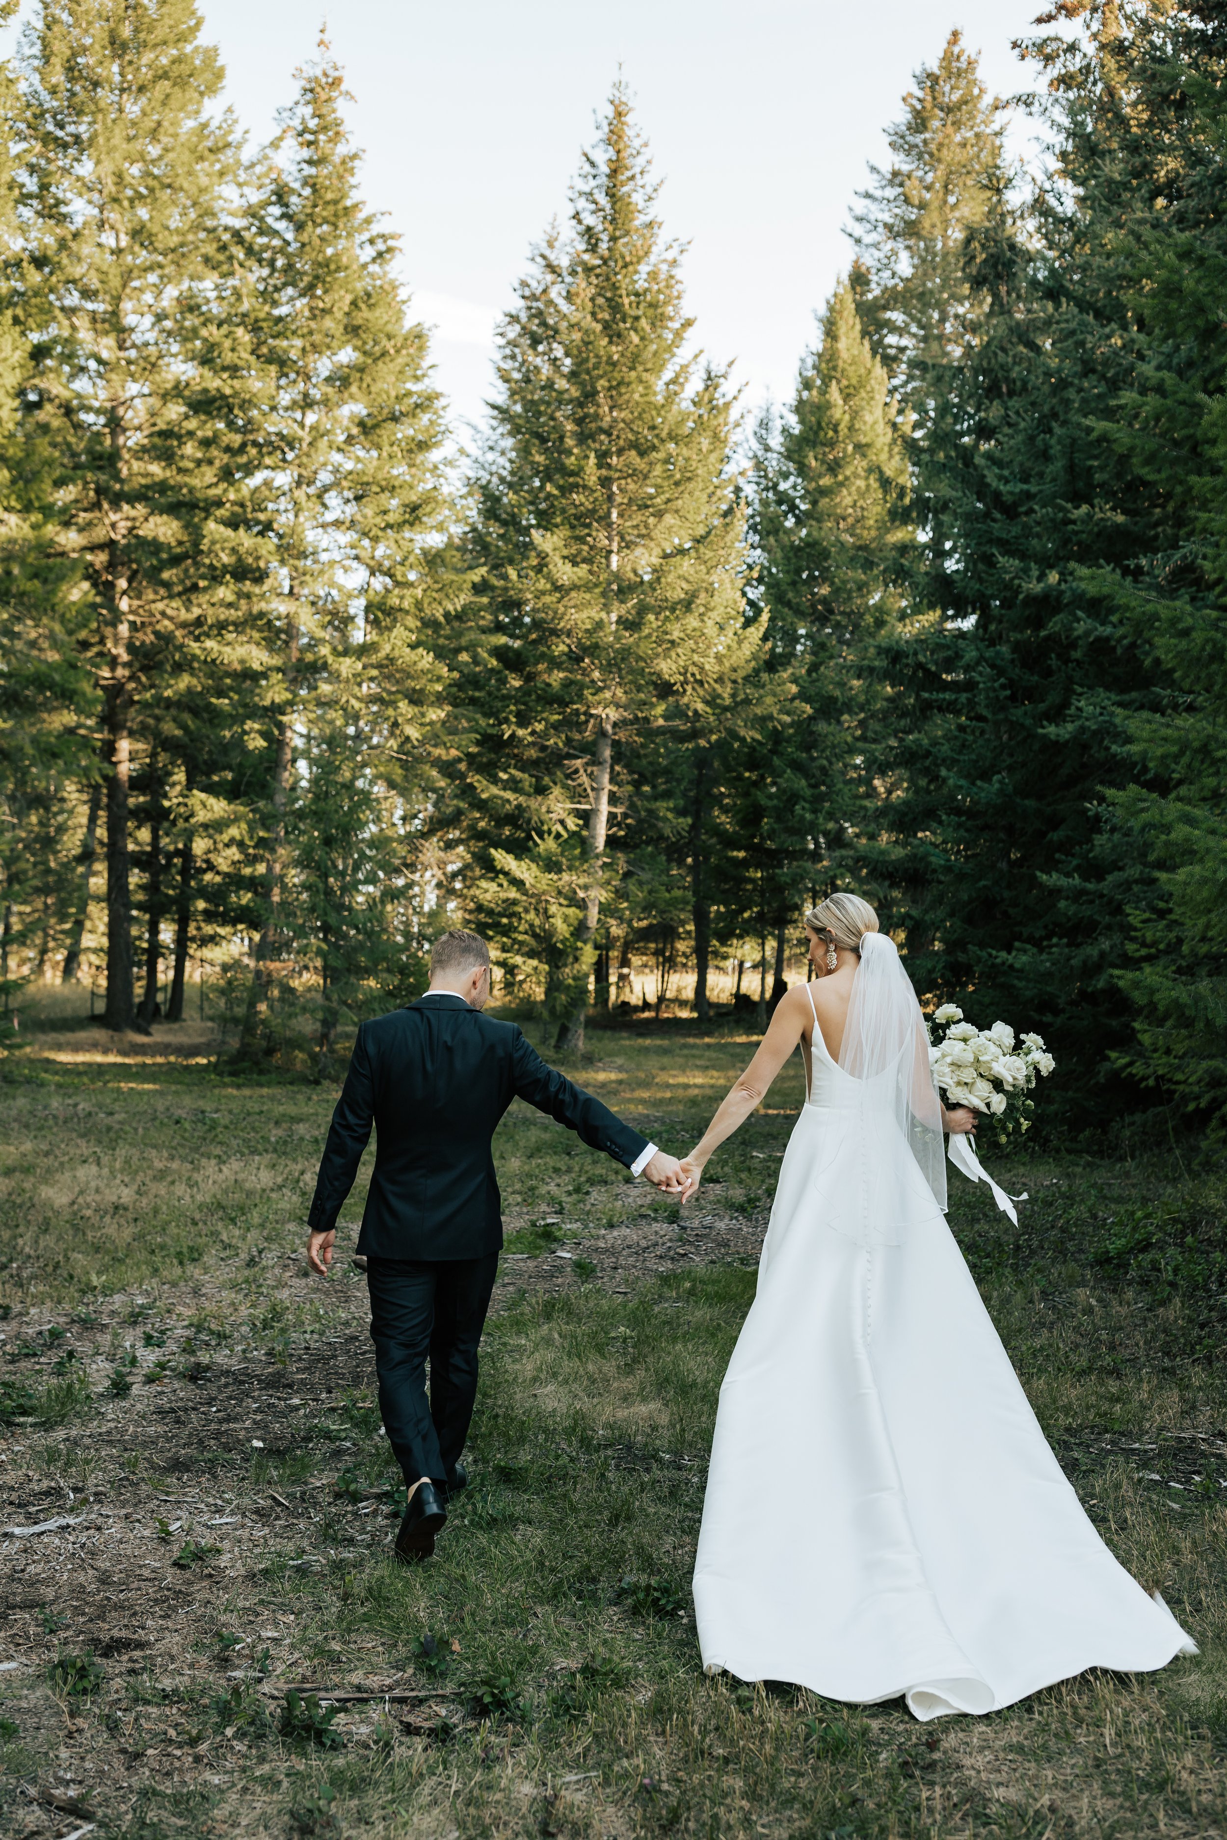
[[366, 1264], [379, 1411], [410, 1487], [419, 1476], [445, 1483], [456, 1470], [473, 1419], [476, 1345], [497, 1271], [499, 1253]]

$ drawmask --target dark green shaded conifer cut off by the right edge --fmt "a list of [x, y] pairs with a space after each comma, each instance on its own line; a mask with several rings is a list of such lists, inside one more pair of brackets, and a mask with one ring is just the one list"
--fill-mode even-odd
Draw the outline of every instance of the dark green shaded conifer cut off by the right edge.
[[1135, 878], [1135, 1005], [1122, 1064], [1227, 1132], [1227, 333], [1221, 315], [1227, 20], [1216, 9], [1078, 9], [1038, 46], [1063, 109], [1065, 167], [1111, 250], [1141, 362], [1098, 425], [1150, 495], [1139, 556], [1087, 576], [1166, 696], [1126, 723], [1133, 784], [1111, 793]]

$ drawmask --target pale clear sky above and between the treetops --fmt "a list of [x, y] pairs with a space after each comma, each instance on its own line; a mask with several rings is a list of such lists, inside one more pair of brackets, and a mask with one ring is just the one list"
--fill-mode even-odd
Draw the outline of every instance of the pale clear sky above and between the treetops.
[[[567, 212], [579, 149], [622, 74], [666, 232], [688, 243], [697, 344], [745, 403], [791, 394], [813, 315], [848, 265], [866, 166], [922, 63], [960, 28], [990, 88], [1038, 0], [201, 0], [228, 101], [256, 140], [327, 11], [368, 202], [401, 237], [436, 381], [464, 425], [491, 392], [491, 333], [533, 243]], [[1019, 151], [1030, 125], [1015, 131]]]

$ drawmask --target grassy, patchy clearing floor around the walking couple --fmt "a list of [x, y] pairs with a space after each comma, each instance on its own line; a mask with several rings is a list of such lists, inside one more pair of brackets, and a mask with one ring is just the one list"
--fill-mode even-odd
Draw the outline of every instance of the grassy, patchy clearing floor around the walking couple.
[[[752, 1041], [591, 1047], [583, 1082], [681, 1150]], [[473, 1483], [410, 1571], [364, 1282], [302, 1257], [335, 1093], [210, 1051], [79, 1023], [0, 1062], [0, 1833], [1227, 1840], [1221, 1181], [1030, 1157], [1017, 1231], [955, 1190], [1087, 1512], [1201, 1654], [922, 1726], [699, 1667], [706, 1452], [797, 1065], [682, 1218], [513, 1108]]]

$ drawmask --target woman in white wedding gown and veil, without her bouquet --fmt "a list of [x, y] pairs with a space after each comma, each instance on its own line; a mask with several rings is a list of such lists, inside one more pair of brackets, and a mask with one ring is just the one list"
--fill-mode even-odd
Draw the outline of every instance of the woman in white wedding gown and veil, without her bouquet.
[[1196, 1654], [1084, 1514], [942, 1218], [942, 1130], [975, 1113], [938, 1100], [892, 940], [855, 894], [806, 929], [819, 979], [782, 997], [682, 1163], [690, 1200], [800, 1041], [809, 1097], [719, 1393], [706, 1671], [936, 1719]]

